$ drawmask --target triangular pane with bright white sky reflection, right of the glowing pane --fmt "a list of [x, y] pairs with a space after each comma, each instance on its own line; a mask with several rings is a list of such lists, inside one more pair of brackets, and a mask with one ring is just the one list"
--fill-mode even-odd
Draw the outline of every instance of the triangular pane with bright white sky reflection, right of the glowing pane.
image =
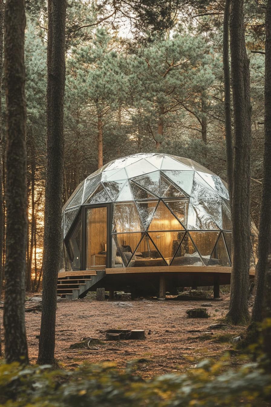
[[190, 198], [188, 217], [188, 230], [219, 230], [217, 224], [212, 220], [210, 215], [200, 205], [199, 200]]

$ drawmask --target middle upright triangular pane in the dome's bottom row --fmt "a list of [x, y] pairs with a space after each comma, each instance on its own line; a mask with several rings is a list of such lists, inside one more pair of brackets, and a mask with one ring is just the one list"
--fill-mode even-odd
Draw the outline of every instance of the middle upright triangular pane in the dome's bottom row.
[[187, 232], [181, 245], [178, 247], [171, 266], [203, 266], [202, 259]]

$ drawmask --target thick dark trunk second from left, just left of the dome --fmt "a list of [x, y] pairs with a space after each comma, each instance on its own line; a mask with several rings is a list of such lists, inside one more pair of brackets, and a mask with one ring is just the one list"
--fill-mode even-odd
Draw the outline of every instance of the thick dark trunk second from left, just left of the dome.
[[43, 294], [37, 360], [39, 364], [56, 364], [54, 359], [56, 284], [61, 247], [64, 155], [65, 14], [65, 0], [48, 0], [47, 176], [43, 243]]

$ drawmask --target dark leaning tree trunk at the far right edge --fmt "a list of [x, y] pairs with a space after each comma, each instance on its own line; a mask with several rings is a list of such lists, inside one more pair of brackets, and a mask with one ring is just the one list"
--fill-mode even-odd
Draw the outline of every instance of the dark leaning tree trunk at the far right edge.
[[271, 0], [265, 16], [264, 158], [259, 224], [259, 260], [256, 265], [256, 293], [251, 322], [262, 321], [264, 278], [271, 253]]

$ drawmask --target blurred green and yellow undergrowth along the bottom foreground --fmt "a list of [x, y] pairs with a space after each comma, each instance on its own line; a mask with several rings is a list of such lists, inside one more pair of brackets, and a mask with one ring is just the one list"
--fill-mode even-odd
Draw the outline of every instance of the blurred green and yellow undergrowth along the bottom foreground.
[[[139, 362], [139, 361], [137, 361]], [[136, 363], [119, 372], [113, 363], [81, 365], [74, 371], [50, 366], [0, 365], [1, 407], [187, 407], [267, 406], [271, 375], [259, 363], [232, 370], [229, 356], [203, 360], [186, 374], [143, 380]]]

